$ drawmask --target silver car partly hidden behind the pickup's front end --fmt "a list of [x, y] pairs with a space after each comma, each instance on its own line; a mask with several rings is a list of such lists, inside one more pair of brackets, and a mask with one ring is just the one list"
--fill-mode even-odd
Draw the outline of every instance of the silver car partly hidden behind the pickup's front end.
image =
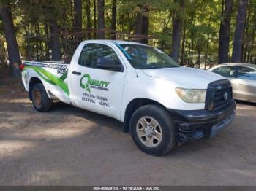
[[256, 65], [249, 63], [225, 63], [208, 69], [230, 80], [233, 98], [256, 102]]

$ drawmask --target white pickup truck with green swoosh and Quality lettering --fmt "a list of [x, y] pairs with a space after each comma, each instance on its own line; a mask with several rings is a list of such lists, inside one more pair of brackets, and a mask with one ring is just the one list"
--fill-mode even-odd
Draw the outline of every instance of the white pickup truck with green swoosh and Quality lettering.
[[25, 61], [23, 84], [34, 108], [53, 98], [124, 122], [135, 144], [164, 155], [177, 144], [208, 139], [233, 121], [227, 79], [179, 66], [157, 48], [135, 42], [81, 42], [70, 63]]

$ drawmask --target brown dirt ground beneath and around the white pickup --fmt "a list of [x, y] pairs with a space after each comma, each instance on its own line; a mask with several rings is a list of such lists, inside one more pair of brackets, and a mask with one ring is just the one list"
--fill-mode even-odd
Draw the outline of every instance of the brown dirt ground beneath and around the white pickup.
[[256, 185], [256, 104], [211, 140], [146, 155], [120, 122], [67, 104], [34, 110], [0, 78], [0, 185]]

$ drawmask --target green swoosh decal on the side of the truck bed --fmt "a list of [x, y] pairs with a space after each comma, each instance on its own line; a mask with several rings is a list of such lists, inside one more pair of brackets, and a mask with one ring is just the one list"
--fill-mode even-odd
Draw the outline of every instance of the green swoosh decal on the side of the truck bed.
[[37, 66], [25, 66], [23, 71], [25, 71], [26, 69], [34, 69], [34, 71], [36, 71], [37, 74], [45, 80], [45, 82], [48, 82], [51, 85], [59, 86], [61, 90], [64, 91], [64, 93], [67, 93], [67, 95], [69, 95], [69, 88], [67, 87], [67, 83], [64, 82], [64, 80], [67, 78], [67, 71], [61, 77], [56, 77], [49, 71], [46, 71], [45, 69]]

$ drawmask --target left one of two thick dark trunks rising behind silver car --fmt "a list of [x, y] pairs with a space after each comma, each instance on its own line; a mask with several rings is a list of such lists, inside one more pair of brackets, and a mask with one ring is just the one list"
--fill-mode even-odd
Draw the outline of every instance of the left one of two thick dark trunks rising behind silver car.
[[219, 63], [228, 63], [230, 47], [230, 21], [232, 15], [233, 0], [225, 1], [223, 19], [219, 28]]

